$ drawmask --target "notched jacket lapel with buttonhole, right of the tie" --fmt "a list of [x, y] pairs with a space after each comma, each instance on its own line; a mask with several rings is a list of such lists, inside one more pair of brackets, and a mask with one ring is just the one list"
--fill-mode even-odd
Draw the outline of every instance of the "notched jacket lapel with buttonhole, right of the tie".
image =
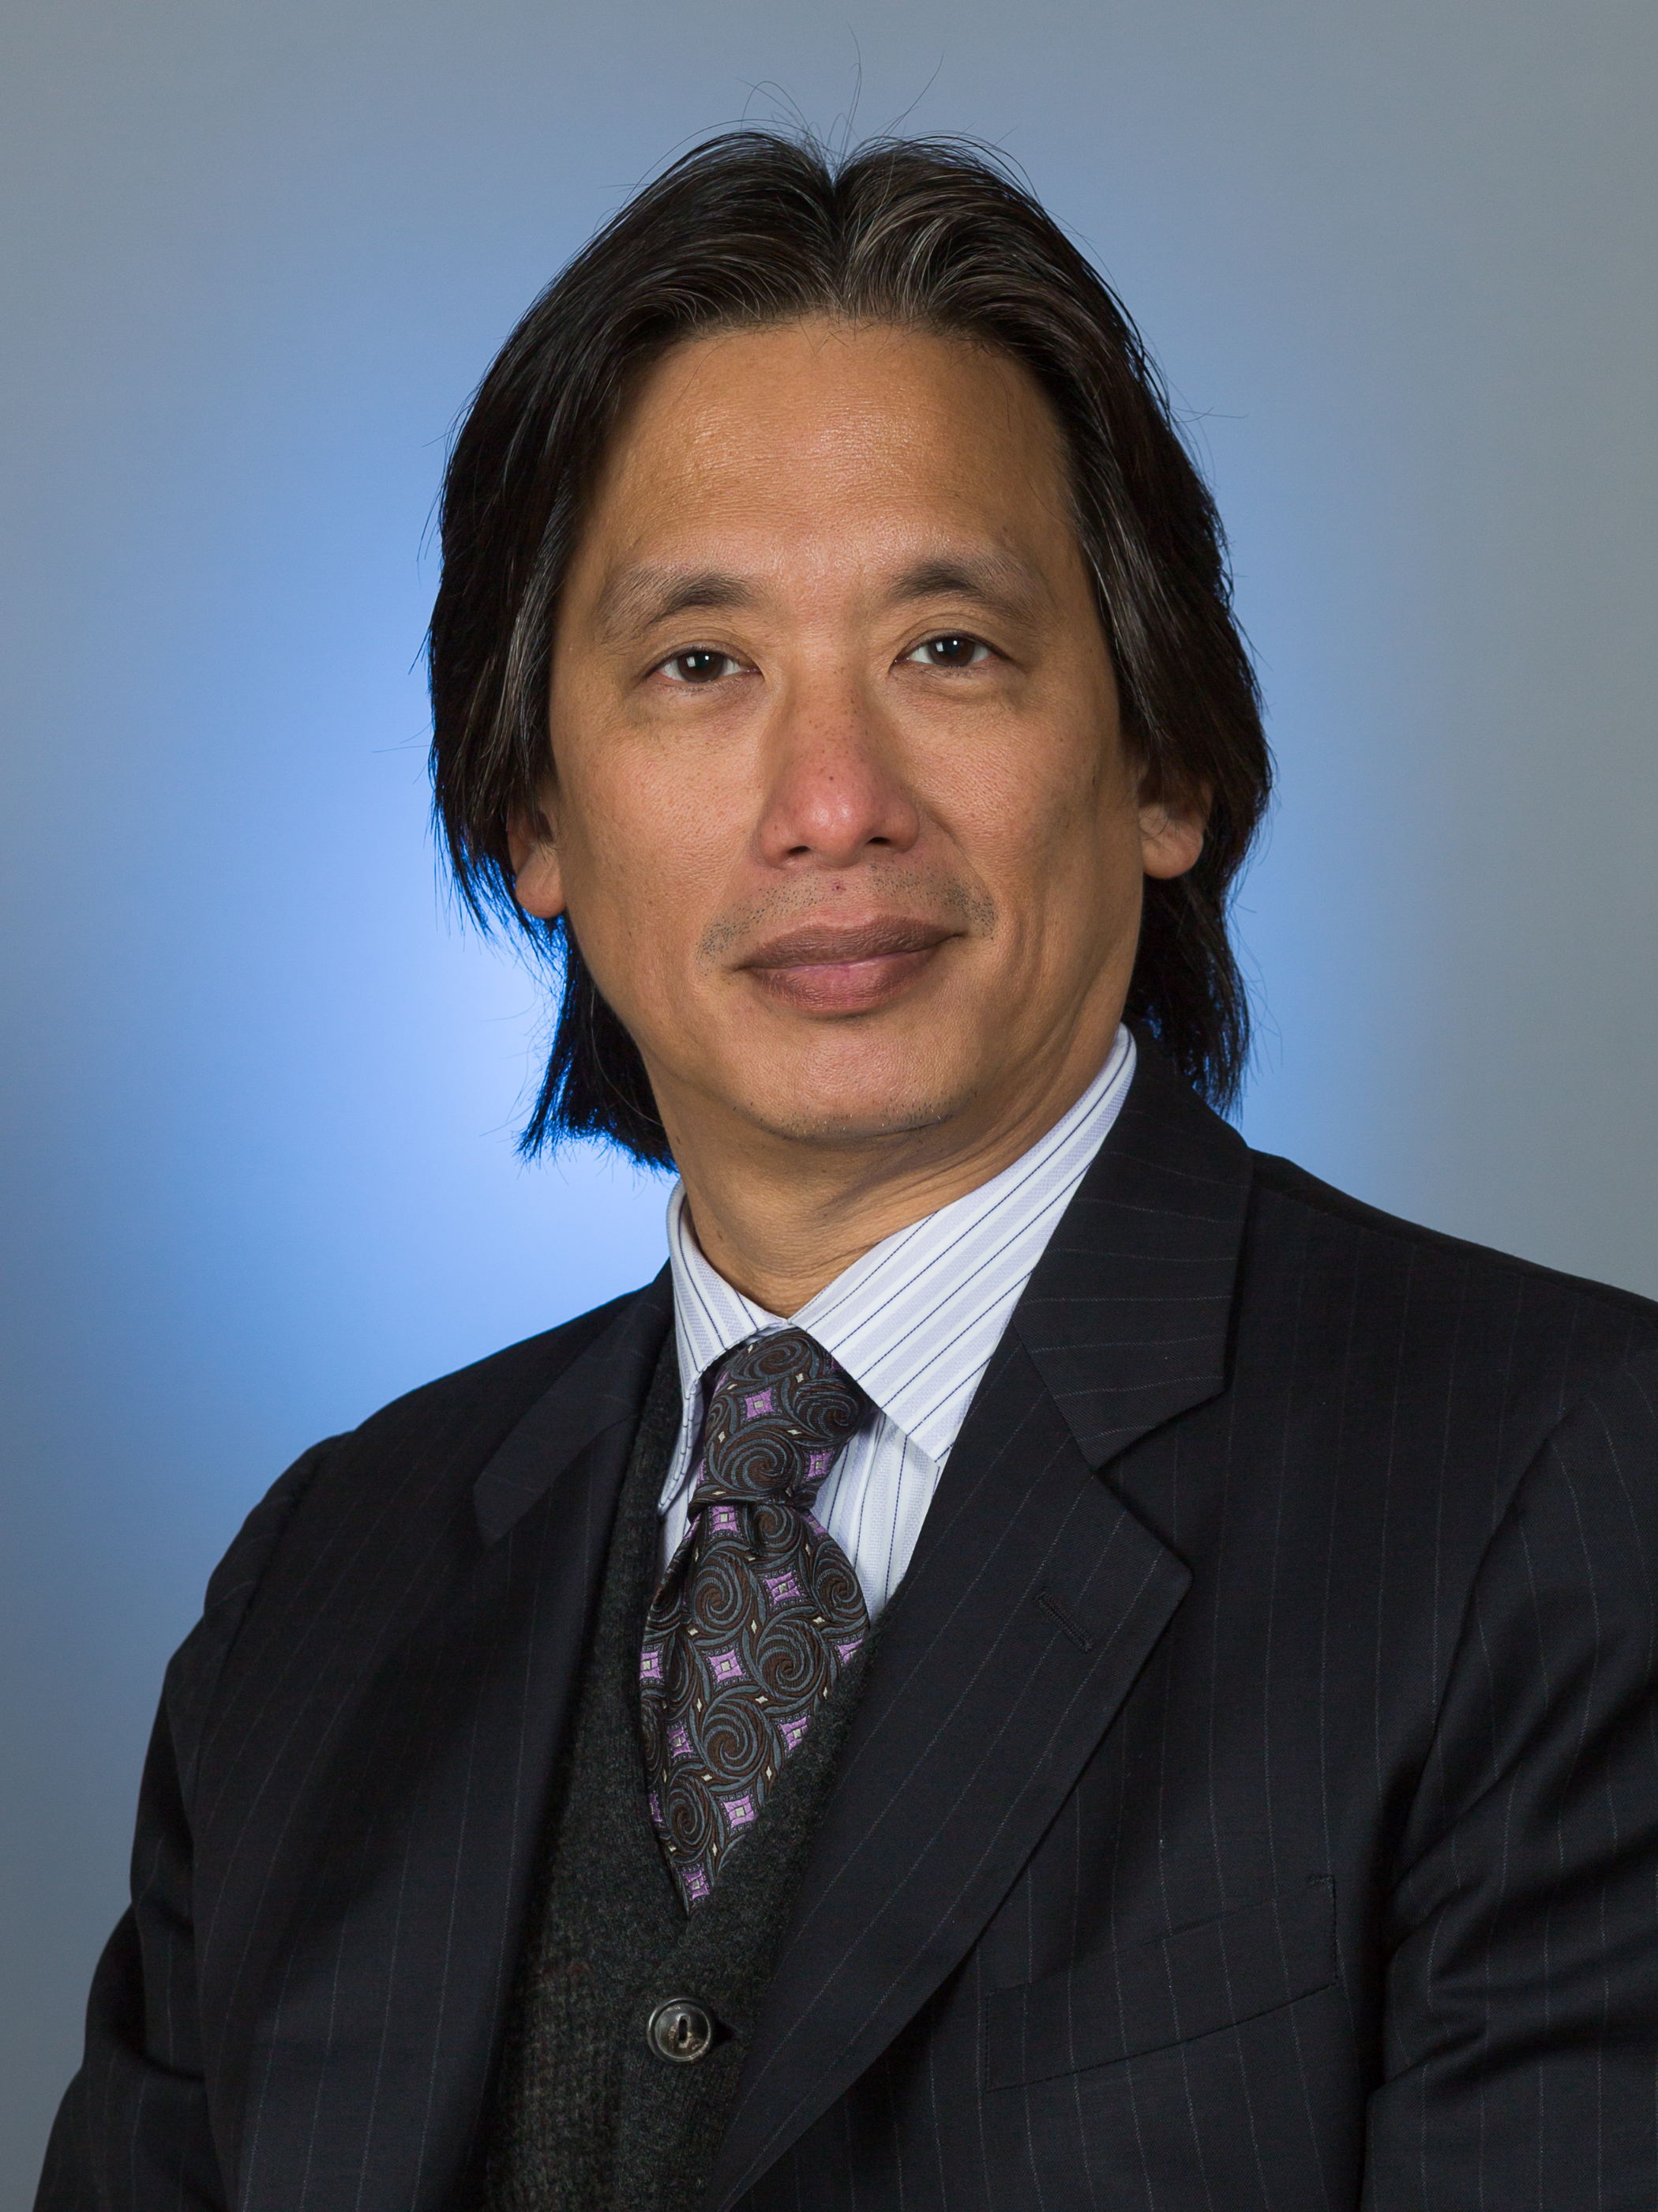
[[1242, 1141], [1141, 1040], [882, 1624], [714, 2212], [962, 1962], [1180, 1604], [1187, 1568], [1096, 1469], [1222, 1389], [1247, 1192]]

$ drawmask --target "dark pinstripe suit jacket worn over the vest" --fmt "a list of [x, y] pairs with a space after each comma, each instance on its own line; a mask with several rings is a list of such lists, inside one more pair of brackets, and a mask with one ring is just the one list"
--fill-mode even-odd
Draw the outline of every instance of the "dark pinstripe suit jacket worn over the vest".
[[[307, 1453], [172, 1663], [42, 2203], [469, 2201], [668, 1283]], [[716, 2208], [1658, 2203], [1658, 1310], [1143, 1051], [951, 1455]]]

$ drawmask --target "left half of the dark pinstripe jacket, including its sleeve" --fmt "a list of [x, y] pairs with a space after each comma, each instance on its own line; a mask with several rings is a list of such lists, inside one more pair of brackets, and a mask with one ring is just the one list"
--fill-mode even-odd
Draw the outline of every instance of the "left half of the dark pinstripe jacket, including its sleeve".
[[[256, 1509], [168, 1670], [44, 2205], [367, 2212], [471, 2185], [668, 1318], [663, 1281], [416, 1391]], [[531, 1480], [548, 1511], [482, 1544]]]

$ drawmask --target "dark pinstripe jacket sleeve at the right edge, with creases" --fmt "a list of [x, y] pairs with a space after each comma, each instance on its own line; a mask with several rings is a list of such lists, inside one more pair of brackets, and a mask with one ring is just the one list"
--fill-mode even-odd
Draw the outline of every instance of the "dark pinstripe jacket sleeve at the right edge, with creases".
[[1583, 1400], [1475, 1579], [1384, 1911], [1366, 2212], [1658, 2203], [1658, 1358]]

